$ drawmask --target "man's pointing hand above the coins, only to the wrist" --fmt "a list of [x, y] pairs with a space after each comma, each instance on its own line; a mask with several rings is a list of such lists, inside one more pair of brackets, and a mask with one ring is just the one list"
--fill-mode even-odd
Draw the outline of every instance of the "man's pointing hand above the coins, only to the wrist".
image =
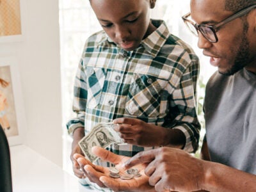
[[163, 147], [136, 154], [125, 162], [125, 168], [148, 164], [145, 174], [156, 191], [197, 191], [204, 188], [206, 162], [183, 150]]

